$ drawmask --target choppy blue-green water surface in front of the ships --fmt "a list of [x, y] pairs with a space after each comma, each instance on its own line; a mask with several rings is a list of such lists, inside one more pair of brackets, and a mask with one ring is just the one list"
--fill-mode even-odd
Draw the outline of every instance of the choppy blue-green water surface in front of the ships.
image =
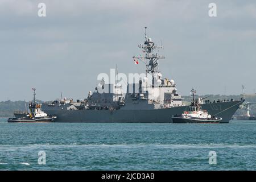
[[[46, 164], [38, 164], [38, 152]], [[209, 151], [217, 164], [209, 164]], [[7, 123], [0, 170], [256, 170], [256, 121]]]

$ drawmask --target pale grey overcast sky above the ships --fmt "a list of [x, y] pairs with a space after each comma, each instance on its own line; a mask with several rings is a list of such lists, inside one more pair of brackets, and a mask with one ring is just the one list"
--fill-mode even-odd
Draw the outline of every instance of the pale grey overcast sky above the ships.
[[[38, 3], [46, 3], [46, 17]], [[210, 18], [208, 5], [217, 4]], [[188, 95], [256, 88], [256, 1], [0, 0], [0, 101], [86, 98], [98, 73], [144, 72], [143, 27], [162, 44], [164, 77]]]

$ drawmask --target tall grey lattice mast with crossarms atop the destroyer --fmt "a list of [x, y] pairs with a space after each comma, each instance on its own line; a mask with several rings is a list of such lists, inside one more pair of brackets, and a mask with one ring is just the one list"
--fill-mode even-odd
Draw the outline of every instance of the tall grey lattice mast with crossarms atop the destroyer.
[[147, 59], [148, 63], [146, 63], [146, 74], [150, 73], [152, 75], [152, 87], [154, 87], [154, 75], [159, 73], [158, 70], [158, 60], [165, 59], [164, 56], [158, 55], [158, 53], [154, 53], [156, 49], [162, 49], [163, 46], [156, 46], [154, 42], [152, 42], [151, 38], [147, 36], [147, 27], [145, 28], [145, 42], [144, 44], [139, 44], [138, 47], [143, 49], [143, 56], [133, 56], [134, 59], [144, 60]]

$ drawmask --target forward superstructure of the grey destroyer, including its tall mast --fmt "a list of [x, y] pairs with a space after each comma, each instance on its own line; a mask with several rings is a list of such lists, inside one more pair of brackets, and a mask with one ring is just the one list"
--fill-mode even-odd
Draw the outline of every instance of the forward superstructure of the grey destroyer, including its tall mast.
[[[159, 60], [165, 59], [164, 56], [155, 53], [163, 46], [156, 46], [151, 38], [147, 36], [147, 27], [145, 27], [145, 41], [144, 44], [139, 44], [138, 47], [143, 49], [143, 56], [133, 56], [133, 59], [139, 59], [146, 63], [146, 77], [139, 82], [139, 93], [143, 98], [147, 98], [151, 104], [154, 103], [154, 109], [163, 109], [174, 106], [182, 106], [181, 96], [177, 93], [174, 80], [163, 78], [159, 71]], [[148, 60], [148, 61], [147, 61]], [[151, 84], [148, 84], [148, 74], [151, 76]], [[142, 90], [147, 94], [142, 94]]]

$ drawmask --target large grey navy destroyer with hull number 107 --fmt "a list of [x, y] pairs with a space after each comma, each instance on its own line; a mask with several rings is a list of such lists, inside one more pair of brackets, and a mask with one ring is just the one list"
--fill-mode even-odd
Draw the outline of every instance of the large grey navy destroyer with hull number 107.
[[[148, 38], [146, 27], [144, 38], [144, 43], [138, 45], [142, 56], [133, 56], [135, 64], [138, 61], [146, 64], [146, 76], [137, 83], [127, 83], [123, 89], [118, 82], [107, 84], [102, 78], [84, 100], [75, 102], [64, 98], [43, 103], [42, 109], [56, 115], [55, 122], [172, 122], [172, 115], [182, 114], [188, 106], [177, 92], [175, 81], [164, 78], [159, 71], [159, 60], [165, 57], [157, 51], [163, 47]], [[224, 123], [229, 122], [244, 101], [243, 98], [225, 102], [195, 100], [203, 110], [221, 117]]]

